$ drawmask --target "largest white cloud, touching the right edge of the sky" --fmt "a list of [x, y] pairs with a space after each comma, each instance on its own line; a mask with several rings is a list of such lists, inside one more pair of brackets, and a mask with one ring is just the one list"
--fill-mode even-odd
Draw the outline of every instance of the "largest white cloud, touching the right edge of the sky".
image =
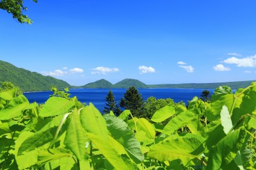
[[227, 64], [234, 64], [236, 66], [241, 66], [241, 67], [255, 67], [256, 66], [256, 55], [250, 56], [247, 58], [228, 58], [223, 61], [223, 63]]

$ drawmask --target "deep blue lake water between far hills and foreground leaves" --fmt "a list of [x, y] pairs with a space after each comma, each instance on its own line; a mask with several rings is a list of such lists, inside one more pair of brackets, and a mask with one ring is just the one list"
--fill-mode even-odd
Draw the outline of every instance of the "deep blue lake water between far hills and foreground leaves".
[[[116, 104], [119, 103], [120, 99], [124, 97], [126, 89], [111, 89], [114, 96]], [[204, 89], [138, 89], [141, 93], [143, 100], [147, 100], [148, 97], [159, 98], [172, 98], [174, 102], [180, 102], [182, 100], [186, 104], [193, 97], [200, 97]], [[214, 89], [207, 89], [213, 93]], [[92, 102], [97, 109], [101, 112], [106, 104], [106, 95], [108, 94], [109, 89], [70, 89], [70, 97], [76, 96], [80, 102], [89, 104]], [[44, 104], [49, 98], [49, 95], [52, 95], [52, 91], [39, 91], [39, 92], [28, 92], [24, 93], [29, 102], [37, 102], [38, 104]]]

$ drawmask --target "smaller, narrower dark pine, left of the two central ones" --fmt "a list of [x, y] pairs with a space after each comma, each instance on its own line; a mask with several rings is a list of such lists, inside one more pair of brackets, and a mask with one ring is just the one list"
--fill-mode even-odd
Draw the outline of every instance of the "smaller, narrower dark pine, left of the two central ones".
[[109, 89], [108, 95], [106, 96], [106, 107], [104, 107], [103, 112], [104, 114], [106, 114], [110, 111], [113, 111], [116, 116], [118, 116], [122, 112], [118, 105], [116, 105], [115, 97], [111, 89]]

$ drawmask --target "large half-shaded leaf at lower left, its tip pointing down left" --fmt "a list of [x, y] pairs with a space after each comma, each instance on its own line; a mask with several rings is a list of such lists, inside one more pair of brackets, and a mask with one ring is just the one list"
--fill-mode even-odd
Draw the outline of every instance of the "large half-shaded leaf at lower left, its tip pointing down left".
[[[43, 146], [46, 143], [51, 142], [55, 135], [56, 131], [58, 129], [58, 126], [60, 125], [61, 121], [63, 120], [63, 116], [57, 116], [52, 119], [47, 125], [45, 125], [41, 130], [36, 132], [35, 134], [29, 136], [20, 146], [18, 155], [21, 155], [24, 151], [31, 151], [35, 150], [36, 148]], [[67, 122], [67, 121], [66, 121]], [[67, 124], [67, 123], [66, 123]], [[63, 125], [63, 127], [60, 129], [59, 135], [63, 134], [67, 127]]]

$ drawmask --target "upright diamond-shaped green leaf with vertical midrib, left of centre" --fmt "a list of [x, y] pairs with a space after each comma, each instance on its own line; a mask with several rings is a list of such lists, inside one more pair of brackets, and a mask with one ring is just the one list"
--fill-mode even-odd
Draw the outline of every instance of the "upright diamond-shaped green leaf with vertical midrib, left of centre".
[[70, 121], [64, 144], [76, 155], [78, 160], [82, 160], [85, 153], [86, 135], [81, 125], [77, 109], [68, 116]]

